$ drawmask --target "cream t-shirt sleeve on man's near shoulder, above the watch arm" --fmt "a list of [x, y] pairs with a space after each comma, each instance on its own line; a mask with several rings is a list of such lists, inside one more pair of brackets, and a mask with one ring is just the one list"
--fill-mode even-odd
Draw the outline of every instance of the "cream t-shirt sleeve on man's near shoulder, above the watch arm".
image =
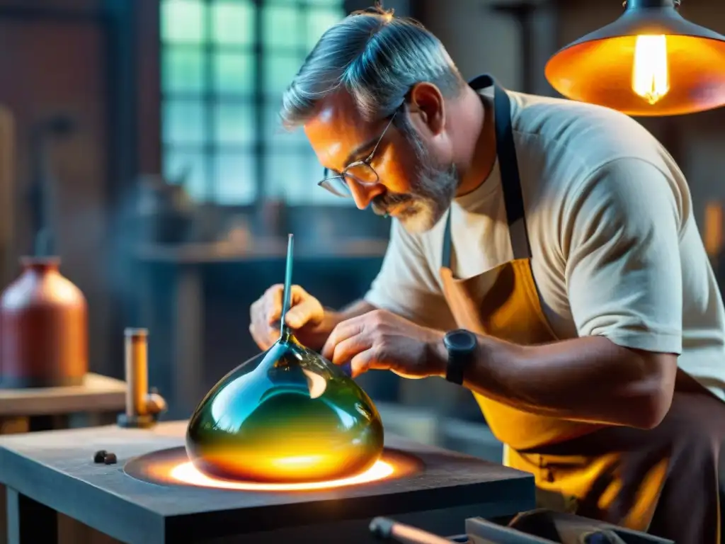
[[582, 184], [564, 213], [566, 284], [579, 336], [682, 352], [681, 193], [653, 163], [621, 159]]

